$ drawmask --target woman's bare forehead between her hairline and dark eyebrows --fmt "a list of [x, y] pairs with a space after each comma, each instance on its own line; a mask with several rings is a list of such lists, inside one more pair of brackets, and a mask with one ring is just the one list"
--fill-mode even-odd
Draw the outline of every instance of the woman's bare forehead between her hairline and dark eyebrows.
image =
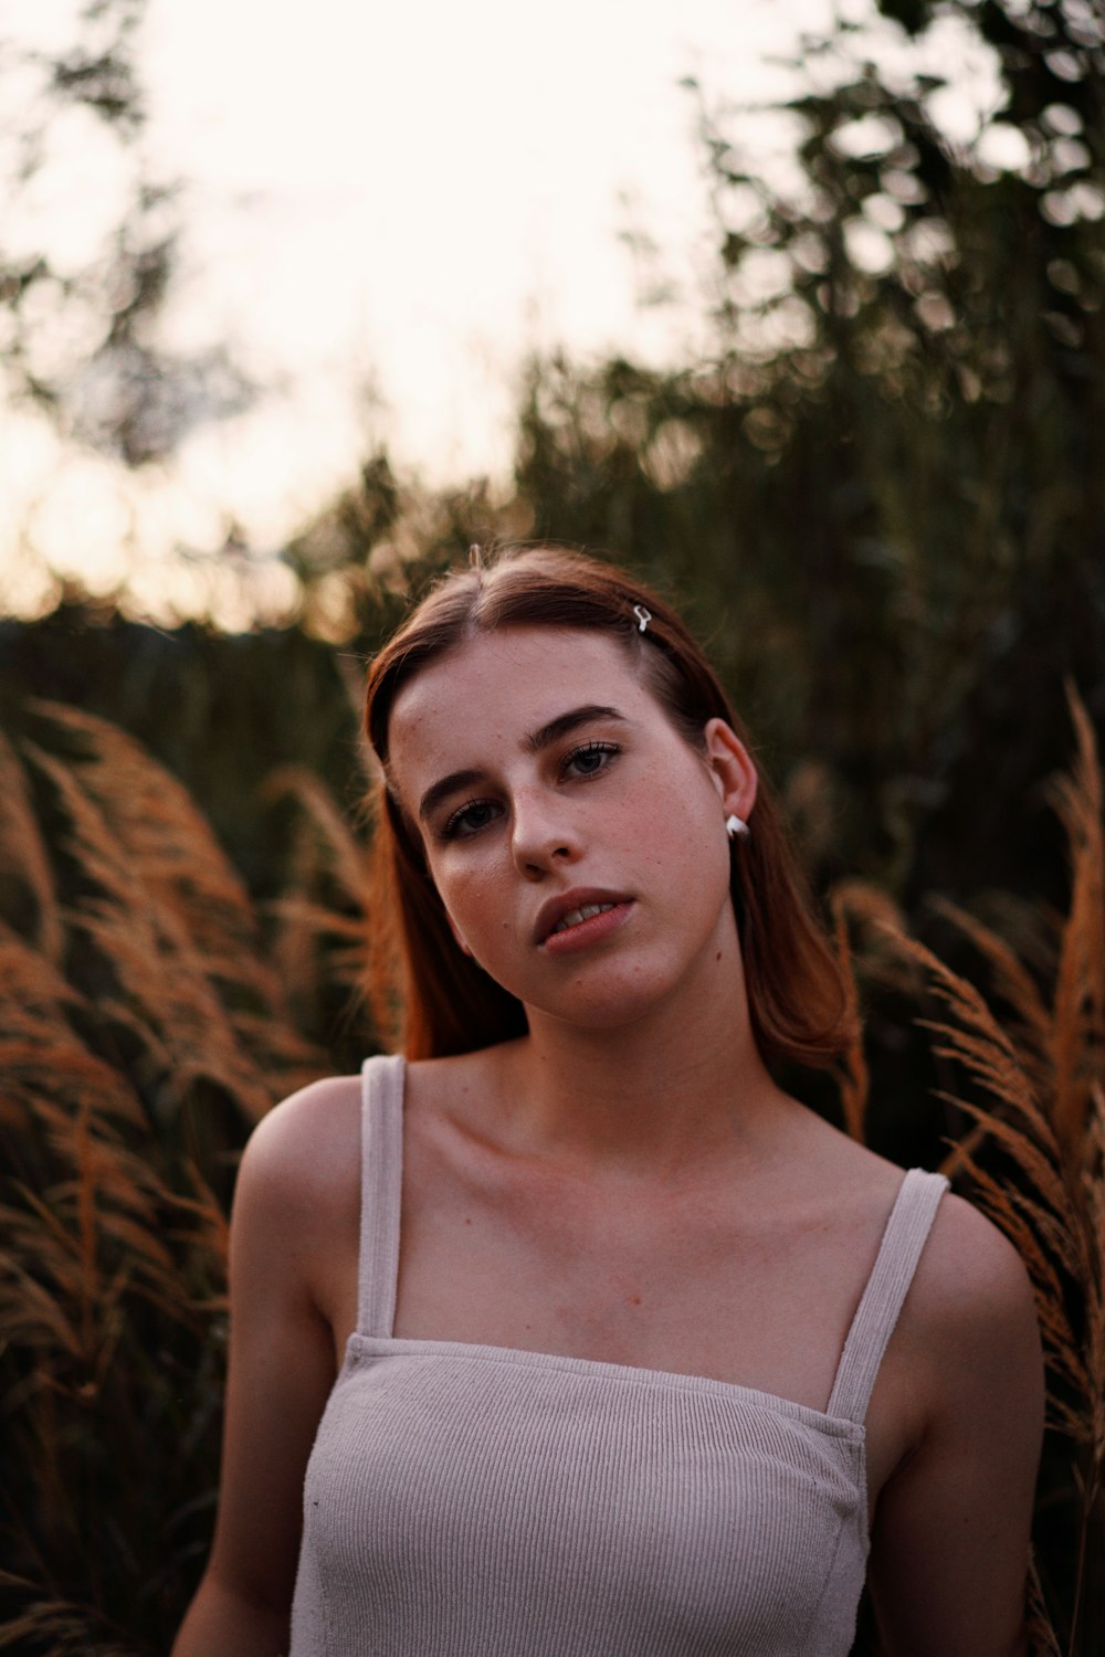
[[568, 708], [615, 706], [663, 717], [623, 645], [591, 628], [515, 626], [475, 633], [417, 673], [394, 699], [396, 775], [461, 757], [482, 741], [517, 741]]

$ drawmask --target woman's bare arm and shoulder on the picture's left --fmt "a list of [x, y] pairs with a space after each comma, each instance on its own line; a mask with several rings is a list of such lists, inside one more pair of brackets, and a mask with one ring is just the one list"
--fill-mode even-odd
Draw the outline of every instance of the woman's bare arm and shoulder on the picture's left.
[[351, 1105], [346, 1080], [316, 1082], [265, 1117], [242, 1158], [219, 1518], [172, 1657], [288, 1649], [303, 1475], [335, 1380], [318, 1284], [335, 1259], [335, 1234], [348, 1233], [350, 1195], [356, 1200]]

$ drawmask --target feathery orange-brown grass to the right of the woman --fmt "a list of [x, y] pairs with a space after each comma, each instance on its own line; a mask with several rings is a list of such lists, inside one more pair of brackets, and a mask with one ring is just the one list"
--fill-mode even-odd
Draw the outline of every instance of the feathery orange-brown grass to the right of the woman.
[[[845, 958], [850, 923], [868, 928], [865, 973], [928, 988], [921, 1024], [959, 1087], [943, 1090], [964, 1127], [943, 1171], [1021, 1253], [1047, 1360], [1044, 1478], [1037, 1510], [1032, 1639], [1039, 1654], [1105, 1650], [1105, 825], [1102, 774], [1085, 709], [1070, 696], [1077, 756], [1052, 800], [1070, 850], [1070, 906], [1039, 915], [1032, 964], [991, 926], [949, 903], [989, 999], [906, 936], [876, 893], [837, 895]], [[1021, 916], [1024, 923], [1024, 915]], [[855, 1118], [856, 1084], [843, 1079]], [[852, 1100], [852, 1102], [850, 1102]]]

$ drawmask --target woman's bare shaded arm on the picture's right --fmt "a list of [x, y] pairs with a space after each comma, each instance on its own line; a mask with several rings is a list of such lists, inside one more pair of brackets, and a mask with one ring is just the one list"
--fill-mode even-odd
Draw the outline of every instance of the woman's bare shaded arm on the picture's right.
[[924, 1425], [878, 1498], [871, 1597], [888, 1657], [1021, 1657], [1044, 1430], [1032, 1291], [1012, 1244], [958, 1198], [926, 1256], [906, 1334]]

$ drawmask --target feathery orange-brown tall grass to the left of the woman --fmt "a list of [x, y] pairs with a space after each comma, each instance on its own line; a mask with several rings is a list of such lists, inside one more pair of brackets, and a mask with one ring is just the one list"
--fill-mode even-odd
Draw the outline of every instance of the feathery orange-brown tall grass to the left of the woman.
[[287, 920], [113, 726], [40, 703], [0, 741], [0, 1649], [161, 1652], [210, 1531], [234, 1162], [331, 1060]]

